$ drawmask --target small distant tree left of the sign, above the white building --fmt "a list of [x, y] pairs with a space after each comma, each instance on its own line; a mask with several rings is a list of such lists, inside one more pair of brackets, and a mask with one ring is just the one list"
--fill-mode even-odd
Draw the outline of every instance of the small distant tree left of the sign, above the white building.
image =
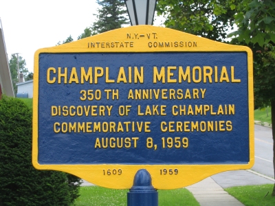
[[[23, 73], [24, 78], [28, 76], [29, 70], [26, 68], [26, 62], [25, 59], [23, 59], [22, 56], [18, 55], [18, 60], [19, 60], [19, 71], [20, 73]], [[18, 79], [18, 73], [17, 73], [17, 54], [12, 54], [10, 61], [9, 61], [9, 66], [10, 66], [10, 73], [12, 76], [12, 85], [14, 88], [14, 95], [17, 95], [17, 83], [19, 82]]]

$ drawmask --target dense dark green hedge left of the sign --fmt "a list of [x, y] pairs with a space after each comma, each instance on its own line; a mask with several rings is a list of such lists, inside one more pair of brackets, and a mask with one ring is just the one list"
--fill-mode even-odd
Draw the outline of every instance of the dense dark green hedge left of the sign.
[[32, 166], [32, 111], [21, 100], [2, 97], [0, 205], [71, 205], [80, 179], [68, 176]]

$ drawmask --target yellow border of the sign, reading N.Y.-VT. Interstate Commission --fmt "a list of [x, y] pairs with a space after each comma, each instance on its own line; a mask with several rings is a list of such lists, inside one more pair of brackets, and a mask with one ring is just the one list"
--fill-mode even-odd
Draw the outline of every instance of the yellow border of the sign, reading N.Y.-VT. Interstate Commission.
[[[148, 35], [149, 34], [149, 35]], [[144, 35], [144, 36], [143, 36]], [[175, 43], [184, 40], [187, 47], [153, 47], [153, 43]], [[97, 47], [91, 47], [91, 42]], [[114, 47], [107, 47], [107, 43], [115, 43]], [[128, 42], [128, 43], [126, 43]], [[189, 43], [190, 42], [190, 43]], [[193, 46], [193, 43], [197, 47]], [[188, 47], [188, 43], [190, 47]], [[110, 46], [111, 44], [109, 44]], [[123, 47], [121, 47], [123, 45]], [[149, 47], [152, 45], [152, 47]], [[39, 98], [39, 54], [41, 53], [100, 53], [100, 52], [246, 52], [248, 54], [248, 106], [249, 106], [249, 142], [250, 161], [248, 164], [230, 165], [41, 165], [38, 162], [38, 98]], [[33, 136], [32, 136], [32, 164], [39, 170], [58, 170], [68, 172], [102, 187], [115, 189], [129, 189], [133, 185], [133, 178], [137, 170], [146, 169], [151, 174], [153, 186], [156, 189], [175, 189], [192, 185], [212, 174], [228, 170], [249, 169], [254, 165], [254, 96], [253, 96], [253, 62], [252, 51], [248, 47], [228, 45], [201, 38], [192, 34], [170, 30], [164, 27], [138, 25], [126, 27], [79, 41], [39, 49], [34, 54], [34, 98], [33, 98]], [[159, 170], [177, 169], [179, 174], [160, 175]], [[103, 175], [103, 170], [121, 169], [122, 174]]]

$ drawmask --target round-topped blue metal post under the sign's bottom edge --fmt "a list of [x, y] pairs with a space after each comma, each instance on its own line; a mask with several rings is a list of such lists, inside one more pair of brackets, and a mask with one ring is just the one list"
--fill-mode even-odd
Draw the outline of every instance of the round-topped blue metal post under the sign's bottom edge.
[[158, 194], [152, 185], [150, 173], [138, 170], [133, 179], [133, 187], [127, 194], [127, 206], [157, 206]]

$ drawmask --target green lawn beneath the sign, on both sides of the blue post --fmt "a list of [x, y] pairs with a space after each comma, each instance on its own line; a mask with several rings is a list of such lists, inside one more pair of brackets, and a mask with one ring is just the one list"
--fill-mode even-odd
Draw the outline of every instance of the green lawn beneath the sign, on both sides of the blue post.
[[[127, 205], [127, 192], [129, 190], [113, 190], [98, 186], [80, 187], [80, 197], [76, 199], [75, 205]], [[158, 193], [159, 206], [199, 206], [199, 203], [186, 189], [159, 190]]]

